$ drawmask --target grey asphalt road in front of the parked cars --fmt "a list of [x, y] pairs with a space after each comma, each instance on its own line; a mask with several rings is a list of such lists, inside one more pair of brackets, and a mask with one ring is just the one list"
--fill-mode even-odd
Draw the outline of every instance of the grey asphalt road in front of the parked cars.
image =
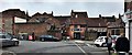
[[19, 46], [4, 47], [2, 51], [14, 52], [16, 55], [25, 54], [59, 54], [59, 55], [108, 55], [106, 50], [95, 47], [86, 42], [61, 41], [61, 42], [32, 42], [20, 41]]

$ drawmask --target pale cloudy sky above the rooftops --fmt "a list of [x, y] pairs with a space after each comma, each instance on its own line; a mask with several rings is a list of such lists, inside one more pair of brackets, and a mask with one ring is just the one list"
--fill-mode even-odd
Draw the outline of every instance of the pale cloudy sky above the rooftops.
[[0, 0], [0, 12], [8, 9], [21, 9], [29, 15], [36, 12], [54, 12], [54, 15], [70, 15], [72, 10], [87, 11], [89, 18], [98, 18], [99, 14], [118, 18], [123, 14], [123, 0]]

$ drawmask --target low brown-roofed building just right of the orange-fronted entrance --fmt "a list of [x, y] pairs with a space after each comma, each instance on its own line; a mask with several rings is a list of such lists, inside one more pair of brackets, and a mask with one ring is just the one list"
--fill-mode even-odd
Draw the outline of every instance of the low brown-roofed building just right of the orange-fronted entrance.
[[[91, 24], [92, 23], [92, 24]], [[102, 18], [88, 18], [87, 19], [87, 40], [95, 40], [98, 36], [106, 36], [107, 23]]]

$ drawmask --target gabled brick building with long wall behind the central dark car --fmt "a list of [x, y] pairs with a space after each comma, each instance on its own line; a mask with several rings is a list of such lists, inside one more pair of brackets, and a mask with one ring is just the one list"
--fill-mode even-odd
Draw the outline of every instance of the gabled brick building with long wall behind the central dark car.
[[[53, 26], [55, 26], [54, 30], [52, 29]], [[34, 32], [35, 36], [41, 36], [43, 34], [52, 34], [54, 36], [61, 37], [61, 32], [54, 32], [58, 30], [59, 26], [59, 21], [53, 16], [53, 12], [37, 12], [33, 14], [26, 23], [15, 23], [15, 32], [18, 34], [26, 33], [28, 35]]]

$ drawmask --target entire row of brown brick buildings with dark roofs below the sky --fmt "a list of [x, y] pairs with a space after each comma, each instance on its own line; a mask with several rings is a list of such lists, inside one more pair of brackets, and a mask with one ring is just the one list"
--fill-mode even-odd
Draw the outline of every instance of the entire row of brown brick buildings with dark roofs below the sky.
[[[85, 36], [86, 40], [95, 40], [99, 35], [105, 35], [110, 32], [117, 34], [123, 31], [121, 19], [114, 16], [88, 18], [87, 11], [74, 11], [70, 15], [53, 15], [51, 13], [36, 12], [29, 16], [28, 12], [19, 9], [9, 9], [2, 12], [7, 26], [6, 32], [20, 34], [32, 34], [35, 36], [42, 34], [52, 34], [54, 36], [70, 36], [70, 38], [80, 40]], [[14, 23], [14, 16], [23, 18], [26, 22]], [[120, 30], [121, 29], [121, 30]], [[116, 33], [114, 33], [116, 32]]]

